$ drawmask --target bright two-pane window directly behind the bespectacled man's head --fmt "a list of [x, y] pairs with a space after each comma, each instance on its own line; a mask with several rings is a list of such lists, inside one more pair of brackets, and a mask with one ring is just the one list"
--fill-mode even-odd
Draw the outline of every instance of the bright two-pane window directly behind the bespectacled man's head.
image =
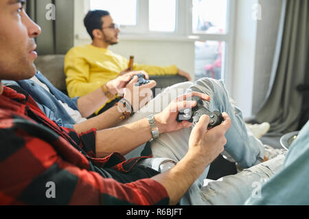
[[[88, 0], [91, 10], [108, 10], [122, 34], [176, 33], [179, 0]], [[121, 5], [121, 7], [119, 7]]]

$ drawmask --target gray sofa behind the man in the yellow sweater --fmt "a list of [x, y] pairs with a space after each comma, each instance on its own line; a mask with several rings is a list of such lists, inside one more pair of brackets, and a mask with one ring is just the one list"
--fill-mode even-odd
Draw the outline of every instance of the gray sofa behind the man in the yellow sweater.
[[[64, 60], [65, 55], [39, 55], [34, 64], [56, 88], [67, 94]], [[187, 81], [185, 77], [179, 75], [154, 75], [150, 76], [150, 79], [157, 81], [156, 88], [166, 88], [172, 86], [174, 83]]]

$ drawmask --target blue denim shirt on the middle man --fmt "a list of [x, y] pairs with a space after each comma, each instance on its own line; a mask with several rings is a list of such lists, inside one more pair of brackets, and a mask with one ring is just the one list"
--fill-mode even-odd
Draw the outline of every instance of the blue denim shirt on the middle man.
[[38, 104], [38, 107], [41, 108], [41, 110], [46, 114], [49, 119], [54, 120], [58, 125], [62, 127], [73, 128], [73, 125], [75, 125], [76, 122], [73, 120], [73, 118], [71, 118], [65, 108], [58, 101], [67, 103], [67, 105], [69, 105], [69, 107], [71, 107], [73, 110], [78, 110], [78, 97], [70, 99], [69, 96], [63, 94], [60, 90], [55, 88], [52, 83], [50, 83], [48, 79], [40, 72], [36, 73], [36, 77], [42, 83], [45, 83], [45, 85], [47, 86], [47, 88], [49, 88], [52, 94], [42, 88], [40, 85], [38, 85], [38, 83], [30, 79], [25, 79], [21, 81], [3, 80], [2, 83], [5, 86], [14, 85], [23, 88], [25, 92], [32, 96], [34, 101], [36, 101], [36, 103]]

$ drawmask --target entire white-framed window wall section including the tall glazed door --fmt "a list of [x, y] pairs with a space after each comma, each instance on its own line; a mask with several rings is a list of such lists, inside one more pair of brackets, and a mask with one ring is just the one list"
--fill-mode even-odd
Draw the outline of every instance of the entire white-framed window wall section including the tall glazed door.
[[84, 1], [88, 9], [111, 12], [124, 40], [192, 42], [195, 78], [224, 79], [231, 88], [236, 0]]

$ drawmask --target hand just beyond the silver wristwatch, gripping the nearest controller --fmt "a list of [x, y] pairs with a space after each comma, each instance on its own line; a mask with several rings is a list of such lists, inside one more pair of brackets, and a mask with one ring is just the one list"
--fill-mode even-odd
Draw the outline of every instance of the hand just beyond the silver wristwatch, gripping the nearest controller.
[[179, 129], [192, 126], [192, 123], [189, 123], [187, 120], [183, 120], [181, 123], [178, 123], [176, 121], [179, 110], [196, 106], [195, 101], [186, 101], [186, 99], [192, 96], [200, 96], [201, 99], [205, 101], [210, 100], [210, 96], [208, 96], [207, 94], [201, 94], [199, 92], [192, 92], [177, 97], [161, 113], [155, 115], [155, 120], [159, 128], [159, 133], [177, 131]]

